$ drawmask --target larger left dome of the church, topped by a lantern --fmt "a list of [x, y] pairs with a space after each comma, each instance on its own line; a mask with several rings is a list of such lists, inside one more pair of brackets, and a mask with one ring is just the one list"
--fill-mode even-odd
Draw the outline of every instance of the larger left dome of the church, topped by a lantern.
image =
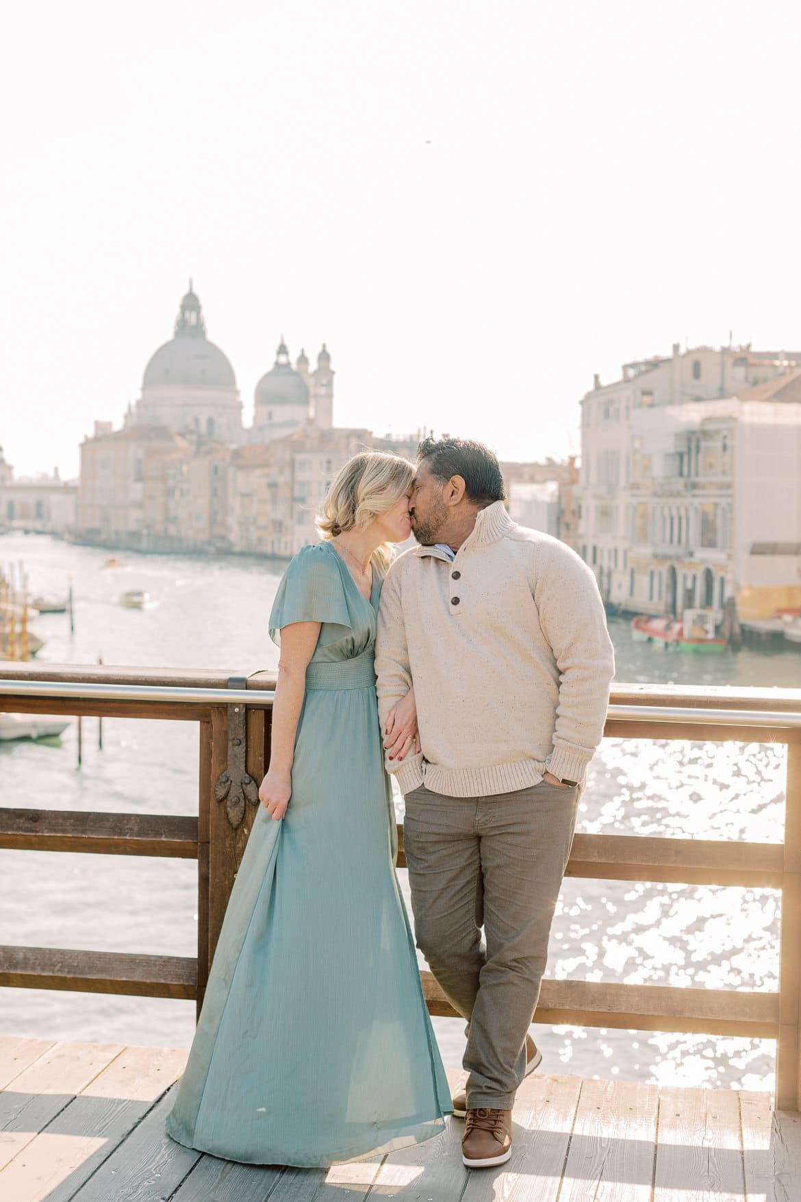
[[235, 388], [234, 369], [219, 346], [205, 337], [201, 302], [192, 291], [181, 300], [175, 335], [160, 346], [144, 369], [144, 388], [165, 386]]

